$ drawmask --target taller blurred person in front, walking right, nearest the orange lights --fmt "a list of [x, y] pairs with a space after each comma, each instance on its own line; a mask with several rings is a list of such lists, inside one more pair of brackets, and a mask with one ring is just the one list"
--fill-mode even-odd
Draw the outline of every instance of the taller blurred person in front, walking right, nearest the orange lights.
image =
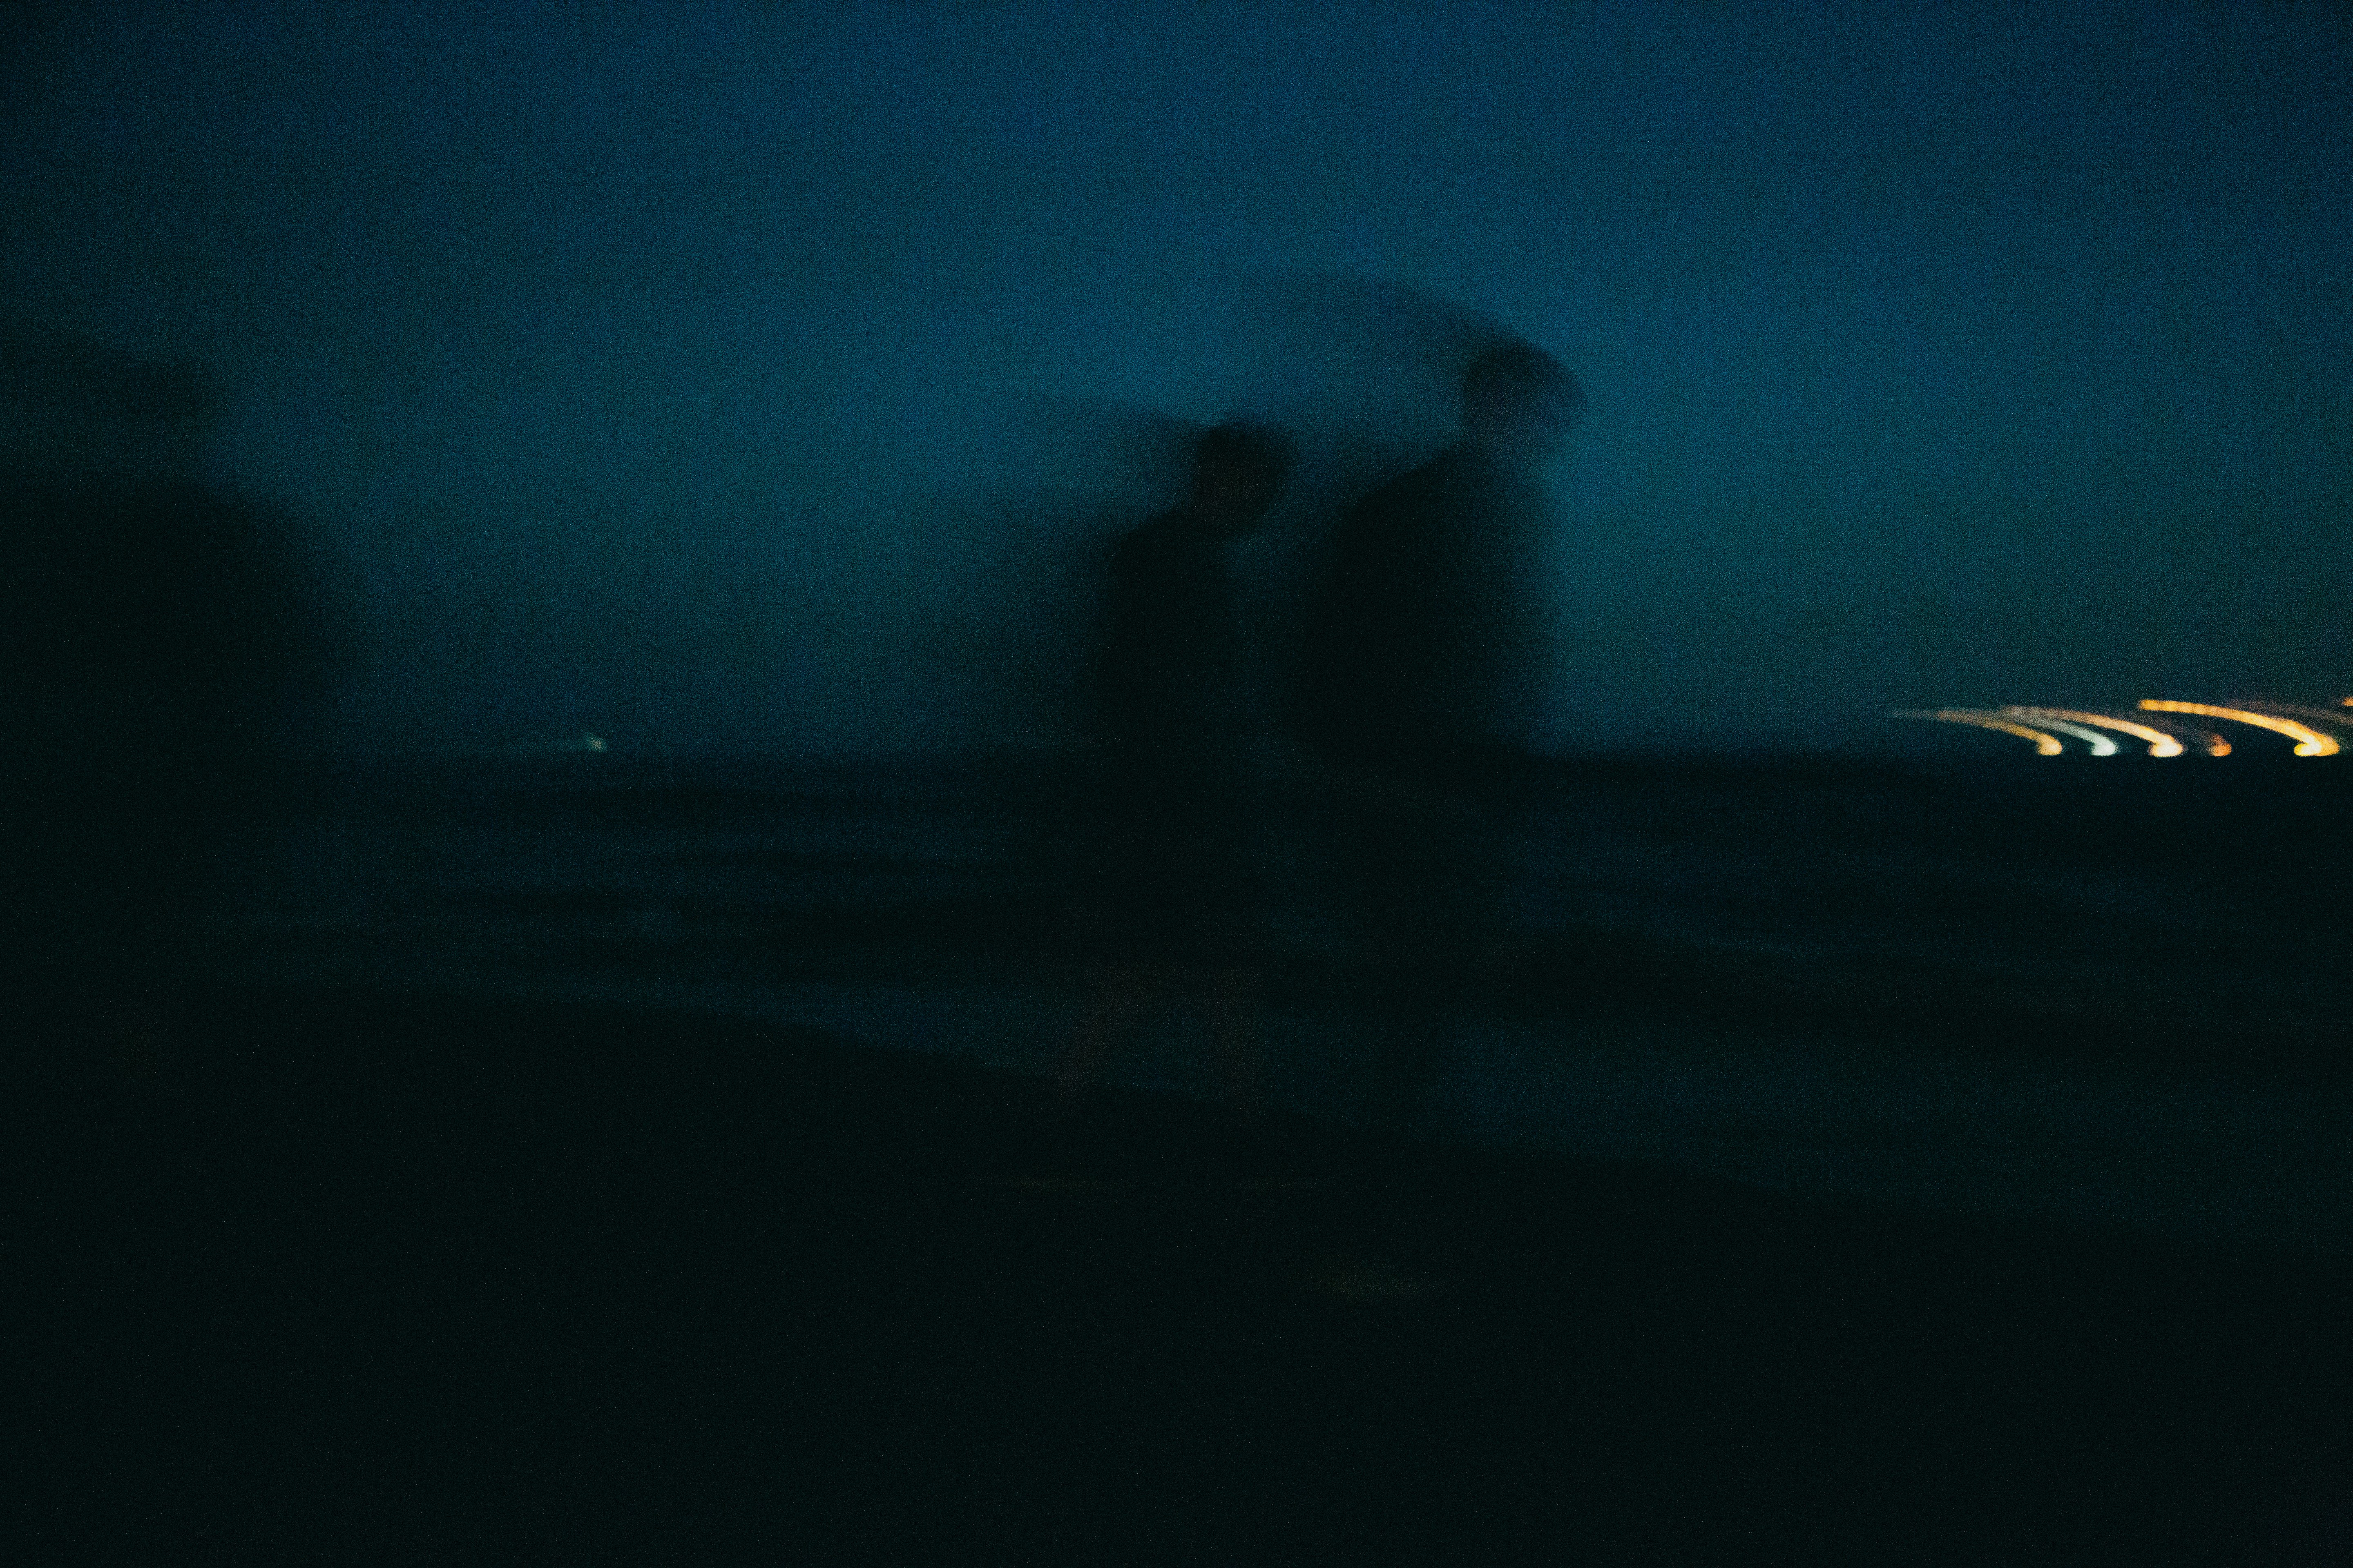
[[1369, 1121], [1405, 1138], [1506, 893], [1497, 809], [1551, 675], [1544, 468], [1577, 376], [1508, 341], [1464, 371], [1464, 435], [1341, 522], [1308, 614], [1301, 731], [1329, 766], [1339, 863], [1381, 994]]

